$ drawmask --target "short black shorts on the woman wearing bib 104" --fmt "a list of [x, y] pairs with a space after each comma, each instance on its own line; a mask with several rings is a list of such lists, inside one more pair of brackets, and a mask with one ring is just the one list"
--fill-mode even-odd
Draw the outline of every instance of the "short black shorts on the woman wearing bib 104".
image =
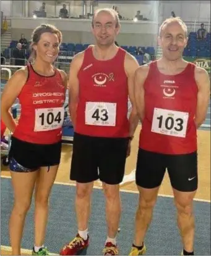
[[9, 162], [12, 171], [27, 172], [40, 167], [59, 165], [61, 142], [55, 144], [33, 144], [11, 138]]

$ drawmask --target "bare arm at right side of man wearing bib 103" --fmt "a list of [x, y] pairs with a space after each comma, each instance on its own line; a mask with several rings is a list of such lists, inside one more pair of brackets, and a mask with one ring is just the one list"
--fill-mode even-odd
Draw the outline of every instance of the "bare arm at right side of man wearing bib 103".
[[198, 128], [205, 121], [207, 115], [210, 101], [210, 80], [207, 71], [199, 67], [195, 69], [195, 79], [198, 86], [195, 123]]

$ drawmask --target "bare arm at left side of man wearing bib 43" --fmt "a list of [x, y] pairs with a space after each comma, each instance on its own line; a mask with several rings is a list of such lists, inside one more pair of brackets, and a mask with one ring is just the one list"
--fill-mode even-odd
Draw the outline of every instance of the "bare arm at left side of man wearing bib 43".
[[69, 112], [71, 115], [72, 126], [75, 129], [77, 104], [79, 101], [79, 79], [78, 72], [84, 60], [84, 52], [80, 52], [72, 59], [69, 70]]

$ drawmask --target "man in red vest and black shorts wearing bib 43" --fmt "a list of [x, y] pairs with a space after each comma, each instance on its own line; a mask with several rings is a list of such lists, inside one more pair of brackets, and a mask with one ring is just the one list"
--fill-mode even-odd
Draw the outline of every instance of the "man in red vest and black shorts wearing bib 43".
[[[114, 44], [119, 32], [118, 14], [99, 9], [92, 21], [96, 45], [77, 54], [71, 63], [70, 112], [74, 124], [71, 180], [77, 181], [75, 207], [78, 234], [61, 250], [75, 255], [88, 246], [88, 219], [93, 181], [103, 182], [108, 237], [104, 255], [118, 255], [116, 234], [121, 215], [119, 183], [137, 127], [134, 107], [134, 57]], [[127, 119], [128, 97], [132, 112]]]

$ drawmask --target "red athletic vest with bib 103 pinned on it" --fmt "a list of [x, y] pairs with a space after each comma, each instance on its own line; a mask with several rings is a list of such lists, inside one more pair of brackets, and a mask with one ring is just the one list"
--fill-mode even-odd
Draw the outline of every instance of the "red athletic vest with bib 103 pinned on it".
[[185, 154], [197, 150], [194, 116], [197, 106], [195, 65], [178, 75], [163, 75], [150, 63], [144, 83], [145, 117], [139, 147], [151, 152]]

